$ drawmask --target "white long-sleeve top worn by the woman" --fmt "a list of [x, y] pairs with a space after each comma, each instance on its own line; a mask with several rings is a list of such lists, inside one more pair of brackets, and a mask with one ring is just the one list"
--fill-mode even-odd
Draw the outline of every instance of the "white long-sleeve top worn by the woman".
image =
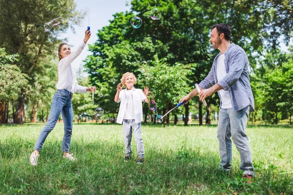
[[86, 93], [87, 87], [77, 83], [77, 75], [70, 64], [82, 53], [84, 46], [85, 43], [83, 41], [75, 51], [72, 51], [69, 56], [59, 61], [57, 89], [66, 89], [71, 93]]

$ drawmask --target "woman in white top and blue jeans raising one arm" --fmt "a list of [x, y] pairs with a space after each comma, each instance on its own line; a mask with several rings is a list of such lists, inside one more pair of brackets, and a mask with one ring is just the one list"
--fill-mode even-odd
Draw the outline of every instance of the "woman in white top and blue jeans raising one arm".
[[72, 135], [73, 123], [73, 109], [72, 109], [72, 95], [77, 93], [85, 93], [87, 91], [95, 91], [96, 87], [84, 87], [78, 85], [76, 73], [73, 71], [71, 62], [78, 57], [84, 49], [87, 40], [90, 38], [89, 30], [85, 31], [84, 42], [79, 45], [76, 51], [71, 52], [69, 45], [62, 43], [58, 48], [59, 63], [58, 63], [58, 83], [57, 91], [52, 98], [51, 110], [47, 124], [42, 129], [40, 136], [35, 145], [35, 151], [30, 156], [30, 163], [36, 166], [38, 163], [39, 152], [48, 134], [55, 127], [56, 122], [62, 113], [64, 122], [64, 136], [63, 136], [63, 158], [76, 160], [69, 154], [69, 146]]

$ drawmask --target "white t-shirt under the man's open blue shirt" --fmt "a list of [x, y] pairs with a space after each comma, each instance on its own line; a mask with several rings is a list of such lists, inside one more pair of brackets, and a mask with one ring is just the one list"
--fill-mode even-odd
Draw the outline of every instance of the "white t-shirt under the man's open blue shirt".
[[[225, 68], [225, 53], [220, 54], [219, 59], [218, 59], [218, 66], [217, 66], [217, 79], [222, 80], [226, 76], [226, 68]], [[231, 104], [231, 98], [229, 95], [229, 91], [225, 91], [224, 89], [221, 89], [219, 91], [221, 100], [222, 100], [222, 106], [221, 108], [232, 108]]]

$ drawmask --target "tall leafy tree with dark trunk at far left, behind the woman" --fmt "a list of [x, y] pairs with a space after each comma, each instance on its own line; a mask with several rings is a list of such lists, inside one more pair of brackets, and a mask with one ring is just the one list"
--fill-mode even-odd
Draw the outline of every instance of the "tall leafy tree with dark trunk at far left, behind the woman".
[[[0, 47], [7, 53], [18, 54], [16, 65], [28, 75], [29, 84], [34, 89], [36, 67], [42, 66], [47, 56], [57, 58], [56, 48], [60, 43], [59, 32], [68, 26], [78, 24], [83, 14], [75, 11], [74, 0], [0, 0]], [[43, 25], [54, 18], [62, 17], [63, 23], [44, 33]], [[43, 67], [42, 67], [43, 68]], [[29, 94], [21, 89], [16, 111], [16, 123], [21, 124], [24, 116], [24, 103]]]

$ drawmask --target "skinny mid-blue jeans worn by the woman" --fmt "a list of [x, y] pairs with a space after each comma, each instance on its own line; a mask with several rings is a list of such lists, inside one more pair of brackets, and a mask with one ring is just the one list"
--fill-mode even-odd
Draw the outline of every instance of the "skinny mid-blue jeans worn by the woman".
[[52, 98], [50, 115], [47, 124], [42, 129], [40, 136], [35, 145], [35, 150], [41, 151], [42, 145], [45, 142], [48, 134], [55, 127], [57, 120], [62, 113], [64, 122], [64, 136], [62, 150], [63, 152], [69, 152], [70, 140], [72, 135], [72, 123], [73, 123], [73, 109], [72, 109], [72, 93], [66, 89], [58, 89]]

